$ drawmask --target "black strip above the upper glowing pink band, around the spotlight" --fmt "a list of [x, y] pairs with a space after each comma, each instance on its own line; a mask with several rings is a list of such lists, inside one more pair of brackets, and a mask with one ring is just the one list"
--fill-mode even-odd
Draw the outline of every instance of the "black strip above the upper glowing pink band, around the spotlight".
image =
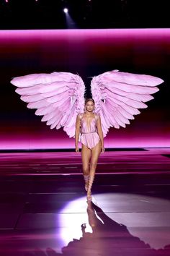
[[66, 28], [67, 7], [78, 28], [169, 27], [169, 1], [1, 0], [0, 29]]

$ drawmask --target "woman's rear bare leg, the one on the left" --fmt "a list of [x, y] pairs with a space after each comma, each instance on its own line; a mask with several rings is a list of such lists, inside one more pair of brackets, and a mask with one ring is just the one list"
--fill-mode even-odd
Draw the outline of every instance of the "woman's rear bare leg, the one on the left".
[[91, 150], [86, 147], [86, 145], [82, 144], [81, 147], [81, 159], [83, 164], [83, 174], [84, 174], [84, 182], [85, 182], [85, 189], [88, 189], [89, 183], [89, 161], [91, 158]]

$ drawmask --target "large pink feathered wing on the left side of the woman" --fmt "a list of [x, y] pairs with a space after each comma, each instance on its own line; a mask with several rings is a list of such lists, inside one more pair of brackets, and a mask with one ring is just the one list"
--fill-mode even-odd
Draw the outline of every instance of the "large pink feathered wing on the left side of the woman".
[[50, 129], [63, 130], [69, 137], [75, 135], [77, 114], [84, 111], [84, 82], [77, 74], [53, 72], [27, 74], [11, 81], [27, 108], [37, 108], [35, 114], [43, 116]]

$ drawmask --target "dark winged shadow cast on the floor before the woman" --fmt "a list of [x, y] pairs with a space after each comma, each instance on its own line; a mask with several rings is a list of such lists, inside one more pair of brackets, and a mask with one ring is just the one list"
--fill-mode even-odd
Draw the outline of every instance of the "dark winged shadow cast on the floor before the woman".
[[125, 225], [109, 218], [101, 208], [88, 202], [87, 214], [92, 233], [86, 232], [86, 223], [82, 223], [82, 237], [73, 239], [62, 253], [55, 252], [52, 248], [35, 249], [24, 256], [168, 256], [170, 244], [164, 249], [153, 249], [132, 236]]

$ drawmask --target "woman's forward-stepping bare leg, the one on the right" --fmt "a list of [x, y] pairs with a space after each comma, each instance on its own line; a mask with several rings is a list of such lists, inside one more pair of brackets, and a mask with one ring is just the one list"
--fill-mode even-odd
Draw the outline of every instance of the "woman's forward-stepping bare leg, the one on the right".
[[89, 197], [89, 199], [91, 199], [90, 195], [91, 195], [91, 187], [94, 181], [94, 175], [95, 175], [95, 171], [97, 168], [97, 161], [99, 158], [99, 155], [101, 153], [101, 142], [99, 141], [99, 143], [91, 149], [91, 161], [90, 161], [90, 171], [89, 171], [89, 186], [88, 186], [88, 190], [87, 190], [87, 197]]

